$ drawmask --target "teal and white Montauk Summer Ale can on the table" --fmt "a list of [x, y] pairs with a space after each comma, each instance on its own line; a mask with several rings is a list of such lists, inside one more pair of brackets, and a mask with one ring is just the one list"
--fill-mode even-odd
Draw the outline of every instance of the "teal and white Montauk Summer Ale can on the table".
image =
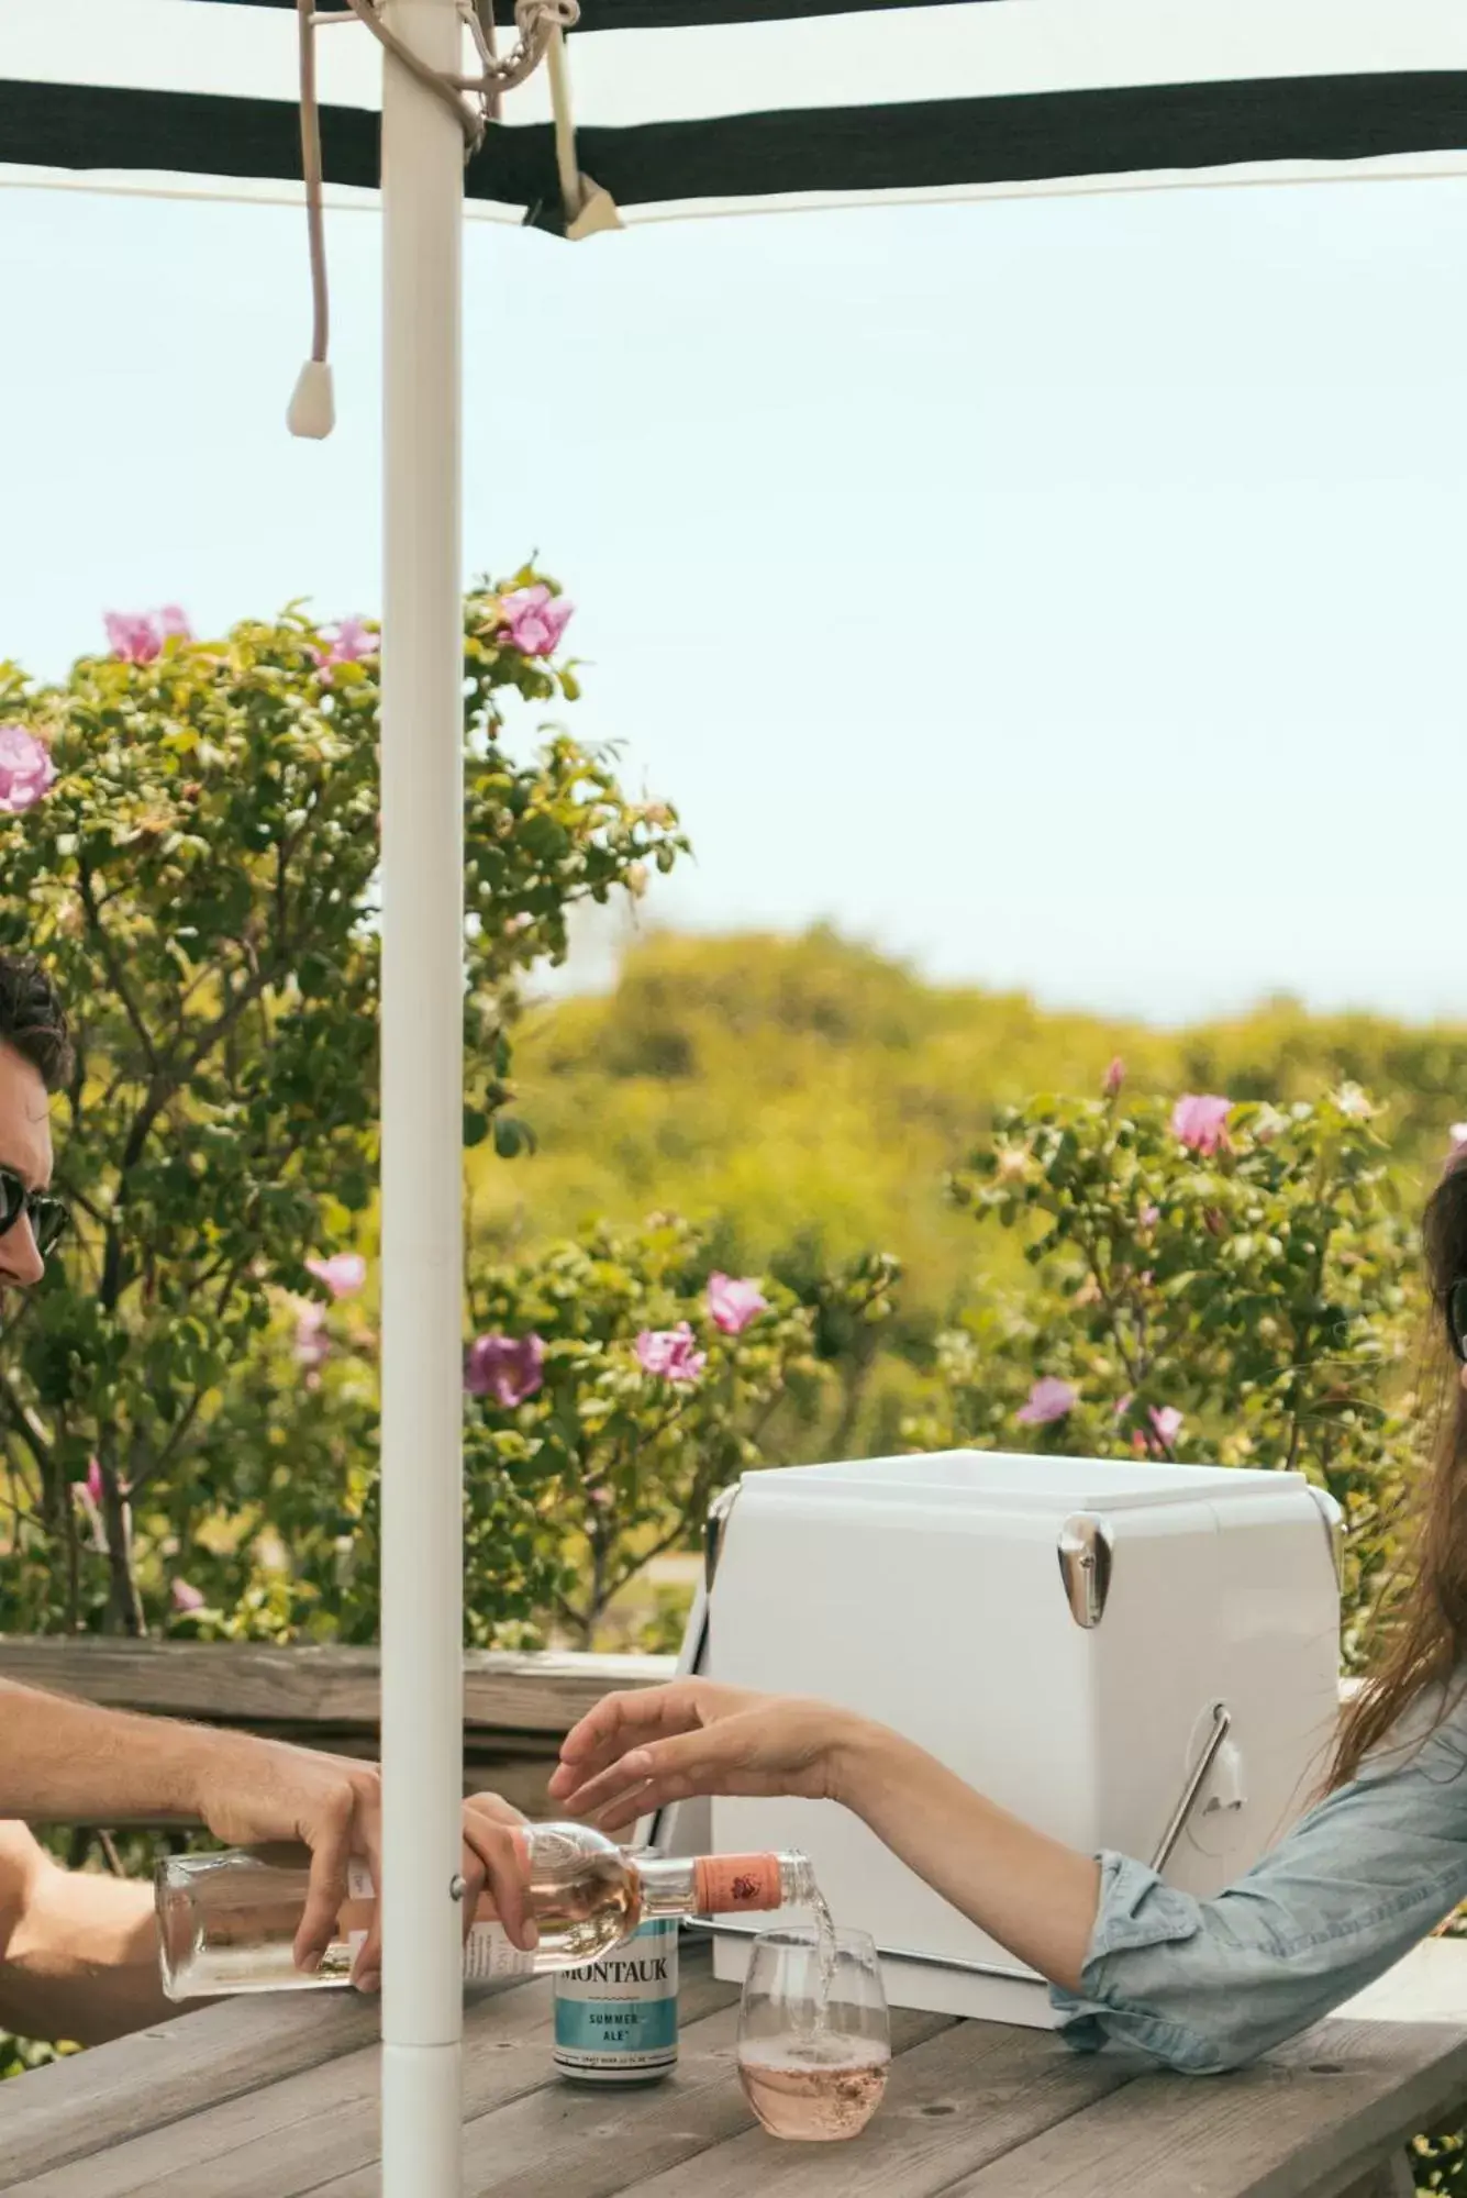
[[676, 1921], [556, 1976], [556, 2068], [573, 2084], [657, 2084], [676, 2068]]

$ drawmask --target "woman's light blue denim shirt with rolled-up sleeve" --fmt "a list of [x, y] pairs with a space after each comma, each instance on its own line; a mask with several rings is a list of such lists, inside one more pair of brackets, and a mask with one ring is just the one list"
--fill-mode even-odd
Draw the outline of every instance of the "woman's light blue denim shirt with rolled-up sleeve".
[[[1423, 1697], [1390, 1747], [1225, 1892], [1197, 1899], [1100, 1855], [1080, 1989], [1052, 1989], [1065, 2040], [1107, 2040], [1219, 2075], [1362, 1991], [1467, 1899], [1467, 1699]], [[1467, 2013], [1467, 2009], [1465, 2009]]]

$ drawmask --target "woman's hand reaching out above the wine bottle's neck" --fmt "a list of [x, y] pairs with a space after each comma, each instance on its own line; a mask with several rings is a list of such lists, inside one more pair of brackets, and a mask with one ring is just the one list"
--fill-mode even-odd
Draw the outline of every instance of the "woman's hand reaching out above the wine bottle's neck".
[[839, 1800], [841, 1752], [856, 1728], [826, 1701], [674, 1679], [608, 1695], [582, 1717], [549, 1791], [558, 1809], [602, 1831], [703, 1794]]

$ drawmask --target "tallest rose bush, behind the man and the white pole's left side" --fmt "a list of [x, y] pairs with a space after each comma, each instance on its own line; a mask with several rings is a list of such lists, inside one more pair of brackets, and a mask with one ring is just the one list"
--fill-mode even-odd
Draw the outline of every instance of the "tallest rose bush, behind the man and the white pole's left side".
[[[683, 846], [567, 732], [507, 754], [507, 708], [578, 695], [567, 620], [534, 571], [463, 611], [463, 1134], [501, 1154], [529, 1143], [518, 980]], [[290, 1629], [329, 1609], [373, 1470], [371, 1369], [327, 1361], [373, 1251], [378, 635], [290, 609], [195, 637], [176, 607], [105, 631], [57, 686], [0, 666], [0, 945], [77, 1026], [77, 1229], [0, 1367], [0, 1624], [195, 1620], [228, 1545], [228, 1622]]]

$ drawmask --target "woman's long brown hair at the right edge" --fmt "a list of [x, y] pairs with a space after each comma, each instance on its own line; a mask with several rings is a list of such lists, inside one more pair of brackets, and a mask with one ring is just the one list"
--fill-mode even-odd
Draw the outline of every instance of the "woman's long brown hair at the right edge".
[[[1467, 1150], [1436, 1185], [1423, 1222], [1423, 1244], [1438, 1334], [1447, 1292], [1467, 1277]], [[1456, 1363], [1452, 1363], [1456, 1374]], [[1434, 1464], [1416, 1530], [1414, 1580], [1384, 1642], [1379, 1668], [1344, 1714], [1329, 1785], [1348, 1785], [1362, 1758], [1392, 1732], [1410, 1703], [1443, 1688], [1467, 1659], [1467, 1394], [1458, 1380], [1441, 1387]]]

